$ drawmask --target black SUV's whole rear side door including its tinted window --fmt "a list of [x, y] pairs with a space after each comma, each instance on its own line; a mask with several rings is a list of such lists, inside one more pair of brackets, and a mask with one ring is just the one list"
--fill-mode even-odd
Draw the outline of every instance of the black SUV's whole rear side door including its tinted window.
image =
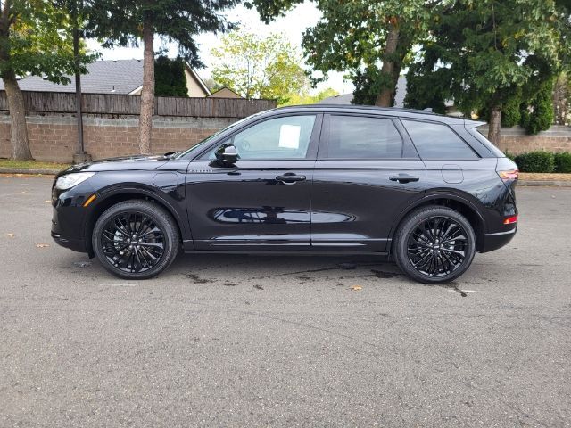
[[311, 192], [312, 251], [387, 251], [394, 220], [426, 190], [400, 121], [327, 114]]

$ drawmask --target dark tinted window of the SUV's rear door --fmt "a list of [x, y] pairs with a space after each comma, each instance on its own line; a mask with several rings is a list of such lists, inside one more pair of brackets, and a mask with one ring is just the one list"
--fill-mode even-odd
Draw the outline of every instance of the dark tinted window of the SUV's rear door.
[[402, 139], [391, 119], [335, 116], [329, 120], [329, 159], [401, 158]]

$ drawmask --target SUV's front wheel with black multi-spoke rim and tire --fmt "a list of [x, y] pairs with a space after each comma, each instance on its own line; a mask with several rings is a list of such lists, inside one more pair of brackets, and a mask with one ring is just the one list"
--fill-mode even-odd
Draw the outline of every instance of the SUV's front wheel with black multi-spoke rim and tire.
[[119, 202], [97, 219], [92, 235], [103, 268], [125, 279], [159, 275], [176, 259], [180, 233], [170, 213], [153, 202]]

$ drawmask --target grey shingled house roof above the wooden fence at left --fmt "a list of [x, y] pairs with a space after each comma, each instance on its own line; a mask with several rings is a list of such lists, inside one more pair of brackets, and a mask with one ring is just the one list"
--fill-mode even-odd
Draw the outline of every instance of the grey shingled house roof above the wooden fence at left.
[[[204, 92], [209, 95], [203, 79], [187, 66], [190, 75]], [[75, 77], [68, 76], [68, 85], [59, 85], [39, 76], [28, 76], [18, 81], [22, 91], [75, 92]], [[81, 92], [84, 94], [128, 95], [143, 86], [143, 60], [95, 61], [87, 64], [87, 74], [81, 76]], [[4, 82], [0, 79], [0, 90]]]

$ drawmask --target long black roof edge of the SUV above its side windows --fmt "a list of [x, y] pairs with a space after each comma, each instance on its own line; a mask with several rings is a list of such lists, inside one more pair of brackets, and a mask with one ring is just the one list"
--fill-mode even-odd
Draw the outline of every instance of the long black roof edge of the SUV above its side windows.
[[434, 120], [437, 122], [447, 123], [450, 125], [464, 124], [467, 119], [456, 118], [452, 116], [445, 116], [437, 114], [433, 111], [414, 110], [414, 109], [401, 109], [397, 107], [376, 107], [370, 105], [339, 105], [339, 104], [306, 104], [306, 105], [288, 105], [285, 107], [278, 107], [267, 111], [269, 114], [277, 114], [285, 111], [290, 112], [307, 112], [319, 111], [323, 113], [339, 113], [339, 112], [359, 112], [365, 114], [378, 114], [383, 116], [394, 116], [399, 118], [409, 119], [424, 119]]

